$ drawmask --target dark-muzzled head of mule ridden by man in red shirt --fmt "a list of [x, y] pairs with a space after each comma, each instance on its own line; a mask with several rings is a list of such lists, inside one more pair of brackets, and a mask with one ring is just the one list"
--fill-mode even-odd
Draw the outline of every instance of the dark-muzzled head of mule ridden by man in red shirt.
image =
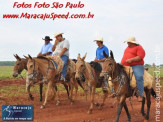
[[100, 77], [105, 77], [105, 76], [109, 76], [109, 75], [113, 75], [115, 68], [116, 68], [116, 62], [114, 60], [114, 56], [113, 56], [113, 52], [110, 51], [110, 57], [103, 52], [106, 60], [103, 63], [102, 66], [102, 72], [100, 74]]

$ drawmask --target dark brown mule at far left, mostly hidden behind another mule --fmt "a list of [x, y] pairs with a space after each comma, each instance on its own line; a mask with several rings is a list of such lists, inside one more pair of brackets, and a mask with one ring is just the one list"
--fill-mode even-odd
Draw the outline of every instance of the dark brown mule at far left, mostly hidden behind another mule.
[[[17, 61], [15, 62], [14, 65], [14, 69], [13, 69], [13, 77], [17, 77], [19, 74], [21, 74], [21, 72], [25, 69], [27, 70], [27, 59], [25, 58], [20, 58], [17, 54], [14, 55], [14, 57], [17, 59]], [[42, 77], [39, 78], [39, 80], [42, 80]], [[43, 83], [40, 82], [40, 101], [42, 101], [42, 88], [43, 88]], [[32, 96], [31, 92], [30, 92], [30, 84], [29, 84], [29, 80], [26, 80], [26, 89], [28, 91], [28, 95], [30, 97], [31, 100], [34, 99], [34, 97]]]

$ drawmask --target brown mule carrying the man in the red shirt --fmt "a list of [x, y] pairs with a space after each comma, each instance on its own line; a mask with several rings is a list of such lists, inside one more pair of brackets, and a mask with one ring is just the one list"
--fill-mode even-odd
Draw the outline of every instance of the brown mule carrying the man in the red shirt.
[[[121, 114], [121, 110], [124, 107], [128, 121], [131, 121], [131, 115], [128, 111], [128, 107], [126, 104], [126, 98], [131, 97], [134, 94], [134, 89], [130, 86], [130, 77], [124, 71], [124, 66], [119, 63], [116, 63], [113, 52], [110, 51], [110, 57], [103, 52], [106, 60], [102, 67], [102, 72], [100, 77], [104, 79], [108, 79], [111, 77], [111, 82], [114, 88], [113, 96], [117, 98], [117, 117], [116, 122], [119, 121], [119, 117]], [[150, 112], [150, 105], [151, 105], [151, 95], [156, 97], [156, 93], [153, 88], [144, 87], [144, 92], [146, 94], [147, 100], [147, 114], [144, 112], [144, 104], [145, 104], [145, 97], [143, 97], [142, 106], [141, 106], [141, 114], [145, 117], [146, 120], [149, 119], [149, 112]]]

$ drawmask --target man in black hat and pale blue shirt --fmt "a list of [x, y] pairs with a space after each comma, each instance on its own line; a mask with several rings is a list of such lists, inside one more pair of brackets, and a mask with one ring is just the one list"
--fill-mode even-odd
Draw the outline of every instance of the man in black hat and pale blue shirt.
[[40, 53], [37, 56], [46, 56], [52, 55], [52, 47], [53, 45], [50, 43], [52, 39], [49, 36], [45, 36], [45, 44], [42, 46]]

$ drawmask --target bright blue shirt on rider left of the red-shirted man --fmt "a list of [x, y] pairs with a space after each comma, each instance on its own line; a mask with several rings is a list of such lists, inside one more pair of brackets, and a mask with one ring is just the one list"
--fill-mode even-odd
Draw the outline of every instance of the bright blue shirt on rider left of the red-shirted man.
[[100, 47], [97, 48], [97, 50], [96, 50], [96, 59], [105, 58], [104, 54], [103, 54], [103, 51], [105, 51], [105, 53], [109, 56], [108, 48], [105, 45], [103, 45], [101, 48]]

